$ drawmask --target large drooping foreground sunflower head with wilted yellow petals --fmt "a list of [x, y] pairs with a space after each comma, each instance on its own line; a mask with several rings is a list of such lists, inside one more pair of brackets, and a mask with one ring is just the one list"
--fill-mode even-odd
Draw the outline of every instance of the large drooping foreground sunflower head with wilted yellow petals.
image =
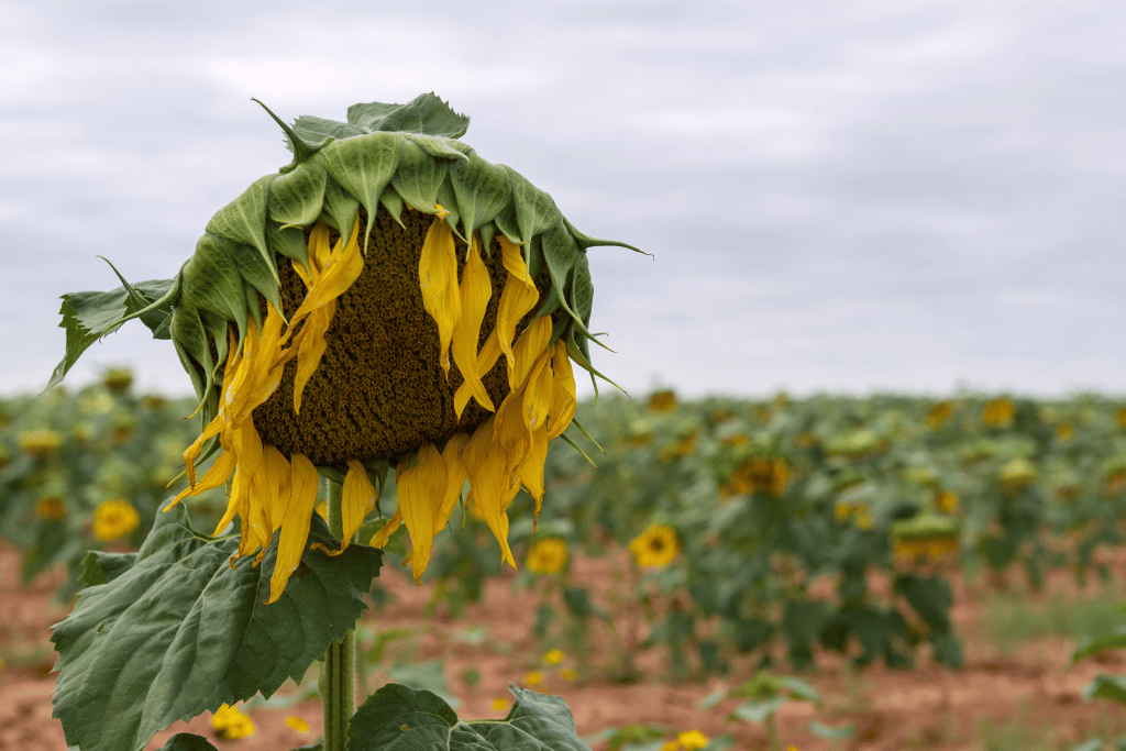
[[420, 581], [468, 482], [464, 502], [516, 567], [507, 510], [524, 488], [538, 515], [547, 444], [574, 419], [572, 361], [602, 377], [587, 249], [624, 243], [582, 234], [477, 157], [459, 141], [468, 118], [432, 93], [355, 105], [343, 123], [267, 113], [293, 161], [221, 209], [163, 288], [125, 285], [122, 320], [163, 325], [202, 400], [173, 504], [230, 483], [215, 534], [238, 517], [236, 557], [256, 565], [280, 533], [269, 602], [305, 548], [319, 475], [342, 485], [330, 555], [393, 470], [397, 510], [361, 542], [405, 527]]

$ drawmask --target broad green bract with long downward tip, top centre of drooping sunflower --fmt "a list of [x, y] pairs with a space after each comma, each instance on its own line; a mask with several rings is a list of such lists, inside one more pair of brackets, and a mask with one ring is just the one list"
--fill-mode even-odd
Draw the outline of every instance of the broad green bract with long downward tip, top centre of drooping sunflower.
[[373, 133], [363, 137], [337, 141], [328, 149], [321, 150], [316, 157], [332, 179], [348, 194], [359, 199], [364, 211], [367, 212], [367, 227], [364, 231], [365, 253], [367, 238], [375, 226], [379, 196], [399, 168], [402, 153], [402, 138], [387, 133]]

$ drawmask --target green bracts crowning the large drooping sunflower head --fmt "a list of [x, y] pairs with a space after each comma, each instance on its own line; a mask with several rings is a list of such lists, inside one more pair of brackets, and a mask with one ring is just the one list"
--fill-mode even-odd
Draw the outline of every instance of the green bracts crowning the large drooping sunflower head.
[[63, 296], [66, 356], [48, 387], [99, 336], [141, 318], [155, 337], [172, 339], [206, 424], [217, 412], [216, 375], [227, 356], [229, 324], [238, 328], [241, 347], [248, 316], [261, 327], [261, 298], [282, 310], [276, 258], [307, 268], [304, 227], [321, 221], [347, 241], [360, 208], [366, 245], [378, 207], [401, 224], [404, 205], [426, 214], [440, 206], [454, 232], [462, 240], [480, 233], [486, 252], [498, 233], [521, 245], [530, 275], [546, 269], [551, 281], [535, 315], [562, 309], [552, 340], [563, 338], [571, 359], [592, 378], [605, 378], [590, 361], [589, 343], [597, 340], [588, 329], [593, 285], [586, 251], [632, 247], [579, 232], [551, 196], [511, 168], [481, 159], [458, 140], [468, 117], [434, 93], [406, 105], [354, 105], [346, 123], [306, 115], [291, 127], [270, 116], [285, 131], [293, 161], [220, 209], [175, 278], [137, 285], [122, 278], [123, 286], [109, 293]]

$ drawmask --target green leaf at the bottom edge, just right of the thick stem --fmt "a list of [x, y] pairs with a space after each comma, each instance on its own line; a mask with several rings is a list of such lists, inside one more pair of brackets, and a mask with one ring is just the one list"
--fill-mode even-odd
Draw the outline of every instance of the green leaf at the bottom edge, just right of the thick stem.
[[461, 721], [436, 694], [388, 683], [352, 715], [348, 751], [590, 751], [557, 696], [509, 685], [504, 719]]

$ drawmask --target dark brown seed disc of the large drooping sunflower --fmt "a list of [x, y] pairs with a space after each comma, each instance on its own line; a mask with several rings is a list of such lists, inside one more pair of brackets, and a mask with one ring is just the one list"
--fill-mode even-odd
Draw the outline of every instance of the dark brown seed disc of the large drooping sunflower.
[[[454, 392], [462, 375], [452, 364], [446, 379], [438, 363], [438, 327], [422, 306], [419, 286], [422, 241], [434, 216], [404, 209], [401, 218], [405, 227], [379, 206], [364, 271], [337, 298], [325, 333], [328, 348], [305, 386], [301, 414], [293, 411], [296, 360], [285, 365], [277, 392], [254, 410], [254, 427], [263, 444], [287, 456], [304, 454], [313, 464], [342, 468], [348, 459], [394, 462], [423, 444], [440, 446], [455, 432], [472, 432], [492, 414], [471, 400], [457, 420]], [[367, 226], [363, 209], [359, 225]], [[338, 236], [333, 231], [331, 241], [336, 243]], [[461, 275], [466, 248], [455, 241]], [[490, 253], [482, 253], [482, 260], [493, 294], [481, 325], [479, 350], [495, 325], [507, 275], [497, 240]], [[278, 257], [277, 266], [282, 303], [289, 318], [305, 298], [305, 285], [289, 259]], [[546, 274], [537, 276], [536, 286], [543, 301], [549, 287]], [[530, 315], [517, 331], [522, 331]], [[482, 382], [499, 408], [509, 391], [503, 356]]]

